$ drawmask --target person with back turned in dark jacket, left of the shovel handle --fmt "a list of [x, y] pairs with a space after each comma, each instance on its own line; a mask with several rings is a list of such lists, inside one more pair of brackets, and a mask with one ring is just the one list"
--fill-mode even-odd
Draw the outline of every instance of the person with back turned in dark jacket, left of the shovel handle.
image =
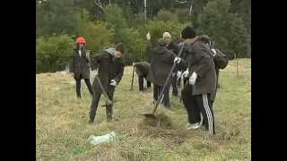
[[[166, 48], [165, 41], [163, 38], [158, 40], [158, 47], [152, 50], [152, 63], [151, 71], [149, 72], [148, 79], [152, 81], [153, 84], [153, 99], [154, 101], [161, 101], [159, 96], [161, 90], [165, 84], [165, 81], [168, 79], [168, 75], [172, 68], [172, 65], [178, 64], [180, 58], [177, 57], [172, 51]], [[168, 80], [166, 89], [164, 89], [163, 94], [163, 105], [166, 108], [170, 108], [170, 97], [169, 89], [171, 84], [171, 78]]]

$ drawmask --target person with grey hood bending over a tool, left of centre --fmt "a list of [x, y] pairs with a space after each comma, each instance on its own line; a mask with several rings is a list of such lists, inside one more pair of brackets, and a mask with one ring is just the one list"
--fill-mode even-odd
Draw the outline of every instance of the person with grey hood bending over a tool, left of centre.
[[[115, 88], [124, 74], [124, 62], [121, 57], [123, 54], [124, 47], [120, 43], [115, 48], [110, 47], [103, 50], [100, 55], [94, 58], [93, 66], [98, 68], [98, 75], [95, 76], [92, 82], [93, 97], [90, 106], [90, 123], [94, 122], [100, 95], [103, 93], [100, 84], [108, 94], [109, 99], [113, 101]], [[108, 102], [106, 102], [106, 114], [107, 121], [111, 121], [113, 119], [113, 105], [109, 105]]]

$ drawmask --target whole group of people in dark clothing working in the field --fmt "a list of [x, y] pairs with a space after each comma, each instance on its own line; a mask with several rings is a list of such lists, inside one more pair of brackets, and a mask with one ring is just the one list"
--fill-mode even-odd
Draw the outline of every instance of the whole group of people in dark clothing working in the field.
[[[170, 109], [170, 87], [172, 95], [181, 94], [183, 105], [187, 109], [187, 130], [204, 126], [211, 135], [215, 133], [213, 101], [216, 95], [219, 70], [228, 64], [228, 57], [220, 50], [213, 49], [210, 38], [206, 35], [197, 36], [196, 31], [187, 26], [181, 31], [182, 42], [172, 41], [169, 32], [164, 32], [158, 39], [157, 47], [150, 43], [151, 35], [147, 35], [150, 44], [149, 62], [135, 63], [138, 76], [139, 90], [143, 91], [143, 82], [147, 88], [153, 87], [153, 103], [161, 101], [164, 107]], [[82, 39], [82, 40], [81, 40]], [[84, 38], [77, 38], [77, 48], [74, 50], [72, 72], [76, 80], [76, 94], [81, 98], [81, 79], [84, 79], [91, 93], [90, 123], [93, 123], [100, 100], [100, 95], [107, 93], [113, 100], [115, 88], [124, 73], [122, 55], [124, 46], [119, 43], [116, 47], [104, 49], [93, 61], [98, 74], [90, 83], [90, 58], [85, 55]], [[173, 65], [176, 65], [172, 68]], [[168, 75], [172, 71], [171, 78]], [[183, 80], [182, 90], [178, 91], [179, 80]], [[165, 82], [168, 86], [163, 89]], [[182, 84], [181, 84], [182, 85]], [[163, 97], [159, 97], [163, 90]], [[107, 120], [113, 119], [113, 106], [106, 104]]]

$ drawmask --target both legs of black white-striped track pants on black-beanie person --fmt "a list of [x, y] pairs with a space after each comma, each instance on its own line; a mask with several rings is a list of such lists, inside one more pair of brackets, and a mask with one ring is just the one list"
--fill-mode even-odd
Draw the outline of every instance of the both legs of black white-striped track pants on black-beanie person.
[[182, 91], [182, 100], [187, 108], [188, 122], [200, 123], [200, 114], [203, 114], [203, 123], [210, 134], [215, 134], [213, 107], [210, 94], [192, 95], [192, 86], [187, 84]]

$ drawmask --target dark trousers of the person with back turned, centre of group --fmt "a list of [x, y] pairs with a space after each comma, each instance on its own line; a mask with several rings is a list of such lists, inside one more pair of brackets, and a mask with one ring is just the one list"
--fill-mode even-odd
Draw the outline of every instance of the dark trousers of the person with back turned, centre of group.
[[[153, 100], [158, 101], [158, 98], [161, 95], [161, 90], [163, 89], [163, 86], [158, 86], [156, 84], [153, 84]], [[166, 87], [166, 89], [163, 92], [163, 106], [170, 108], [170, 85]], [[162, 98], [162, 97], [161, 97]], [[160, 100], [161, 101], [161, 100]]]

